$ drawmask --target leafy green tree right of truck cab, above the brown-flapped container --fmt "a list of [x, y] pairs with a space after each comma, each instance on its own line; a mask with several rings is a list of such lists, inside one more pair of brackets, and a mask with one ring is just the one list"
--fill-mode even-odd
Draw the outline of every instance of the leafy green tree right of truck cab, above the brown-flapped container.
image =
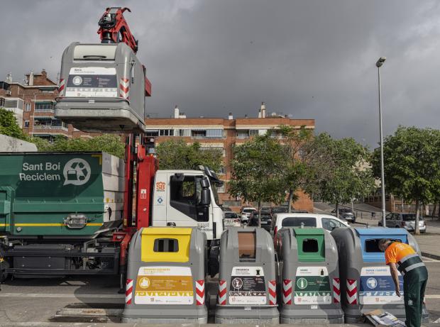
[[[285, 199], [284, 172], [287, 155], [285, 148], [269, 133], [258, 135], [233, 148], [232, 179], [229, 192], [245, 201], [280, 202]], [[258, 215], [258, 226], [261, 226]]]

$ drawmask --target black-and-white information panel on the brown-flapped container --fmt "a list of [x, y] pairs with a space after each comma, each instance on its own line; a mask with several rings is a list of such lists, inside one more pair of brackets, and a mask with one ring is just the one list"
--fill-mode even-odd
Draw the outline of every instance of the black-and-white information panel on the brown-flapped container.
[[263, 267], [233, 267], [229, 304], [266, 304], [267, 293]]

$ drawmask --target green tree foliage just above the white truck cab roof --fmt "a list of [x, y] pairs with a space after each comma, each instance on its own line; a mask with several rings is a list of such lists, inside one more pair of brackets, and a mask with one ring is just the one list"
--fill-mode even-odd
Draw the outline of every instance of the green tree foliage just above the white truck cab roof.
[[194, 169], [199, 165], [218, 172], [223, 154], [219, 150], [201, 150], [199, 143], [187, 145], [185, 140], [166, 140], [156, 146], [160, 169]]

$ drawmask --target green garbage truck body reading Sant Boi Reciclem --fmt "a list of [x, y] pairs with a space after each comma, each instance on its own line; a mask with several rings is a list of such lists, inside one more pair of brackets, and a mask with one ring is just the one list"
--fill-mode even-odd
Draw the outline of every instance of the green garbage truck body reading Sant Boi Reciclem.
[[119, 250], [109, 240], [122, 223], [123, 174], [123, 160], [107, 153], [0, 153], [4, 272], [113, 268]]

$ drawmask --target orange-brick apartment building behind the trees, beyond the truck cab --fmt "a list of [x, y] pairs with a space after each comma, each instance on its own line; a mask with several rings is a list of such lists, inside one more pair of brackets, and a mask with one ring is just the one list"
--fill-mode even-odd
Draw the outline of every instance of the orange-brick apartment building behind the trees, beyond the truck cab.
[[[187, 118], [185, 113], [174, 109], [172, 118], [145, 118], [148, 135], [156, 138], [156, 143], [170, 138], [182, 138], [188, 144], [198, 142], [202, 149], [220, 150], [224, 156], [224, 165], [219, 177], [225, 182], [231, 179], [232, 147], [253, 137], [270, 131], [273, 137], [280, 137], [279, 126], [288, 125], [294, 128], [314, 129], [314, 119], [292, 119], [277, 113], [266, 113], [265, 104], [261, 104], [258, 116], [255, 118], [234, 118], [229, 113], [228, 118]], [[219, 189], [219, 196], [224, 204], [237, 208], [241, 201], [227, 192], [226, 184]], [[313, 211], [313, 202], [309, 196], [299, 192], [295, 209]]]

